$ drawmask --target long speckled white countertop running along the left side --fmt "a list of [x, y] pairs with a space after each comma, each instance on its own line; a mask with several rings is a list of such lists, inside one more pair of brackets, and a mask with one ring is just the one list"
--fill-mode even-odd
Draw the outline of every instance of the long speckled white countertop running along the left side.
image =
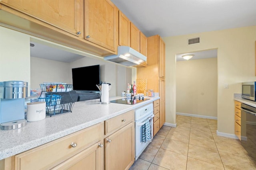
[[[116, 100], [124, 97], [112, 97]], [[41, 121], [28, 122], [25, 127], [13, 130], [0, 130], [0, 160], [38, 147], [50, 141], [64, 137], [86, 127], [95, 125], [132, 109], [149, 104], [155, 97], [134, 105], [99, 104], [100, 99], [75, 102], [72, 113], [46, 116]]]

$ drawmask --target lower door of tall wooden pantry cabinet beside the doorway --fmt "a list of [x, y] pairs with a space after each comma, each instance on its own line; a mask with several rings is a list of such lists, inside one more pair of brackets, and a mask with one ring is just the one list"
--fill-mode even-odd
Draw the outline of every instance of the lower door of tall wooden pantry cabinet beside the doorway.
[[160, 96], [160, 128], [165, 123], [165, 79], [159, 79], [159, 96]]

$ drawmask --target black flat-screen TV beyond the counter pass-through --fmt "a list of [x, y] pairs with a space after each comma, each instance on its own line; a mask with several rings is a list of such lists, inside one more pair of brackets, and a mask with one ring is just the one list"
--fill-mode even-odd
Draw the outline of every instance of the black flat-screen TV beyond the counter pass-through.
[[73, 90], [100, 91], [100, 65], [72, 68]]

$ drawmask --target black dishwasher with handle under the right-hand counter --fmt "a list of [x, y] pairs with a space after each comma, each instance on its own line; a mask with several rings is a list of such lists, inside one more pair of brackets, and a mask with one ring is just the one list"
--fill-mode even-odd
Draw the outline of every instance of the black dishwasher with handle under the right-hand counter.
[[243, 103], [241, 104], [241, 144], [248, 156], [256, 163], [256, 108]]

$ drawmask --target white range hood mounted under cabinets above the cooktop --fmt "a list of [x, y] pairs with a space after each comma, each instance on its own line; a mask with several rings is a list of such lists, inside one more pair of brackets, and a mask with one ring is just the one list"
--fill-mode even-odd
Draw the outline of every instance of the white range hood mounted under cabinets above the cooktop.
[[118, 46], [118, 54], [104, 57], [104, 60], [125, 66], [134, 66], [147, 61], [147, 57], [128, 46]]

